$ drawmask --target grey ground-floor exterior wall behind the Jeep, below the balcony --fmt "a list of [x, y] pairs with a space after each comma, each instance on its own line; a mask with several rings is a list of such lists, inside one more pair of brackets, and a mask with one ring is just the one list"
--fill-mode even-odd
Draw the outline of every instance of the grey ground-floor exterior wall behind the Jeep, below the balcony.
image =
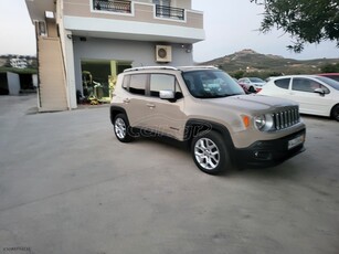
[[[137, 42], [88, 38], [85, 42], [74, 38], [74, 62], [76, 89], [82, 88], [82, 60], [115, 60], [130, 61], [134, 67], [160, 65], [156, 62], [156, 44], [153, 42]], [[181, 44], [171, 44], [172, 62], [161, 65], [192, 65], [192, 52], [187, 53]]]

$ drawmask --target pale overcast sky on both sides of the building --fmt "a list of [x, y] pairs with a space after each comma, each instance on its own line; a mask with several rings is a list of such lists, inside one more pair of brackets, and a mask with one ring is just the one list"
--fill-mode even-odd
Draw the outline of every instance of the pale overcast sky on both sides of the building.
[[[263, 8], [250, 0], [192, 0], [192, 9], [203, 11], [205, 30], [205, 41], [193, 46], [195, 62], [244, 49], [286, 59], [339, 59], [339, 49], [333, 42], [309, 44], [297, 54], [286, 49], [292, 42], [288, 34], [282, 31], [258, 32]], [[0, 55], [3, 54], [36, 54], [34, 27], [24, 0], [0, 1]]]

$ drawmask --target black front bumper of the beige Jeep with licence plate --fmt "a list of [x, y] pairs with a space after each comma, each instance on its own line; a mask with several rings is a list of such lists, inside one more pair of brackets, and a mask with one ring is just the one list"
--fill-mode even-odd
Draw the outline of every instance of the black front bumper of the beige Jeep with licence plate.
[[235, 149], [237, 166], [272, 167], [305, 151], [306, 129], [275, 140], [262, 140], [247, 148]]

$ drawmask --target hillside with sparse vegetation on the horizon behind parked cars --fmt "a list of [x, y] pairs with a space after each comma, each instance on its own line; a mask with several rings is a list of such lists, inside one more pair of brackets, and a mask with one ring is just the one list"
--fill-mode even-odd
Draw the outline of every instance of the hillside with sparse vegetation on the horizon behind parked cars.
[[259, 54], [253, 50], [242, 50], [200, 65], [214, 65], [230, 74], [236, 72], [309, 74], [319, 73], [326, 64], [339, 63], [339, 59], [293, 60], [278, 55]]

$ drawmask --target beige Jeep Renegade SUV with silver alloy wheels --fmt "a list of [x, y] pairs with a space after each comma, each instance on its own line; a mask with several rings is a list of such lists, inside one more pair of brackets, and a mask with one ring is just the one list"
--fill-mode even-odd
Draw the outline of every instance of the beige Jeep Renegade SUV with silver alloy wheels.
[[199, 169], [274, 166], [304, 150], [305, 125], [290, 100], [245, 95], [215, 67], [137, 67], [118, 75], [110, 104], [117, 139], [186, 141]]

